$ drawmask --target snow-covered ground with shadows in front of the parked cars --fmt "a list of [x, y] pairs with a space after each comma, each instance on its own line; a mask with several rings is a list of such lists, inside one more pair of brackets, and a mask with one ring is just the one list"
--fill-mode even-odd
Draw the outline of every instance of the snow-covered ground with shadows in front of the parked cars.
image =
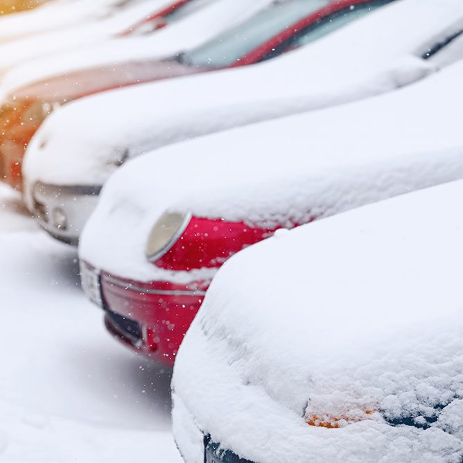
[[105, 333], [55, 243], [0, 185], [0, 461], [181, 462], [171, 372]]

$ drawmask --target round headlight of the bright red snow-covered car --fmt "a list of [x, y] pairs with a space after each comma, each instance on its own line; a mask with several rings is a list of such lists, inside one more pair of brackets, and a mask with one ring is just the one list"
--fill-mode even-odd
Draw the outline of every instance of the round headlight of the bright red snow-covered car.
[[156, 261], [171, 249], [190, 221], [190, 214], [164, 212], [155, 223], [146, 242], [146, 256]]

